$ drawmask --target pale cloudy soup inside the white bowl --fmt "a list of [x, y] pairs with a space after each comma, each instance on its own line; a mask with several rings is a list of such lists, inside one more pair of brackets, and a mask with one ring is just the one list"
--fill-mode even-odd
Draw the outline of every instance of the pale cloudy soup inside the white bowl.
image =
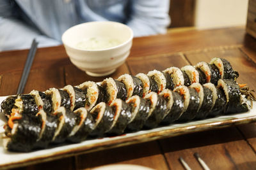
[[92, 37], [77, 43], [76, 47], [81, 50], [104, 50], [113, 46], [120, 45], [122, 41], [108, 37]]

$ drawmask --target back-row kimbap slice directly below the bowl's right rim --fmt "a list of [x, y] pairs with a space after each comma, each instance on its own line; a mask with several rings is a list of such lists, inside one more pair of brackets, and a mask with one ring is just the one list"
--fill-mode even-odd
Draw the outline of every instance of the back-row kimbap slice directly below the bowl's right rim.
[[135, 95], [138, 95], [140, 97], [143, 96], [143, 83], [140, 78], [137, 78], [136, 76], [131, 76], [129, 74], [123, 74], [122, 76], [119, 76], [117, 80], [124, 83], [126, 87], [126, 99]]

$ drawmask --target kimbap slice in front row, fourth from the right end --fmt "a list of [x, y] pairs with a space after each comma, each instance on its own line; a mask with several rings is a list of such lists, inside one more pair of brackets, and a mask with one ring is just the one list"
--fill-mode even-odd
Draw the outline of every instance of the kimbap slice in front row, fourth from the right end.
[[178, 92], [184, 99], [184, 113], [178, 119], [179, 122], [186, 122], [195, 118], [200, 106], [198, 92], [193, 88], [184, 85], [176, 87], [174, 92]]

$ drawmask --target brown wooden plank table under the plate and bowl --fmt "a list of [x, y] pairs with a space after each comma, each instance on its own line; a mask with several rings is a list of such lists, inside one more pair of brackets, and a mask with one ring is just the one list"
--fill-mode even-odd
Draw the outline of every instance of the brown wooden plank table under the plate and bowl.
[[[0, 96], [15, 94], [28, 50], [0, 53]], [[152, 69], [182, 67], [212, 57], [228, 59], [239, 71], [240, 83], [256, 89], [256, 39], [244, 27], [204, 31], [170, 31], [168, 34], [134, 38], [131, 55], [111, 76], [147, 73]], [[83, 81], [102, 81], [73, 66], [63, 46], [40, 48], [36, 53], [24, 93], [47, 90]], [[107, 164], [138, 164], [154, 169], [183, 169], [183, 157], [192, 169], [202, 169], [193, 157], [198, 152], [211, 169], [255, 169], [256, 126], [237, 125], [195, 132], [137, 145], [112, 148], [73, 157], [52, 160], [23, 169], [90, 169]]]

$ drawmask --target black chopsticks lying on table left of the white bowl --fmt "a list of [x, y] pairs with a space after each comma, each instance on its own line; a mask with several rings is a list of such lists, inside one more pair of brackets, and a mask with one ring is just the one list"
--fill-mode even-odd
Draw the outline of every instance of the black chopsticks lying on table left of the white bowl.
[[38, 45], [38, 42], [36, 42], [36, 40], [33, 39], [33, 42], [31, 44], [31, 48], [29, 50], [28, 57], [27, 57], [27, 60], [26, 60], [26, 63], [25, 63], [25, 66], [24, 66], [24, 69], [22, 72], [22, 76], [20, 79], [17, 94], [22, 94], [24, 92], [24, 88], [25, 88], [26, 82], [28, 80], [29, 71], [30, 71], [31, 65], [33, 63], [33, 60], [35, 58], [37, 45]]

